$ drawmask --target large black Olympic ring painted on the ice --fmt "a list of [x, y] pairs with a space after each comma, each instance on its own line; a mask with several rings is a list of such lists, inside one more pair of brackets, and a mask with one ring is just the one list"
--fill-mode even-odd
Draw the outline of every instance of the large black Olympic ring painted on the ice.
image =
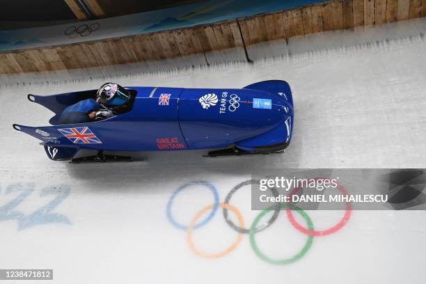
[[[237, 184], [231, 191], [229, 191], [229, 194], [228, 194], [228, 196], [226, 196], [225, 201], [223, 201], [223, 203], [229, 204], [230, 198], [235, 194], [235, 192], [238, 189], [244, 187], [244, 185], [258, 184], [258, 183], [260, 183], [259, 180], [246, 180], [245, 182], [241, 182], [241, 183]], [[276, 190], [275, 187], [272, 187], [271, 191], [272, 191], [272, 194], [274, 194], [274, 196], [278, 197], [278, 191]], [[266, 228], [271, 226], [272, 223], [274, 223], [276, 221], [276, 219], [278, 218], [278, 214], [280, 213], [280, 204], [277, 203], [277, 205], [278, 206], [276, 206], [276, 209], [274, 210], [274, 214], [272, 214], [271, 219], [269, 219], [267, 221], [267, 223], [264, 223], [262, 226], [255, 228], [255, 232], [260, 232], [262, 230], [265, 230]], [[231, 228], [236, 230], [237, 232], [242, 233], [242, 234], [249, 234], [250, 233], [250, 229], [241, 228], [241, 227], [235, 225], [235, 223], [232, 223], [232, 221], [230, 221], [230, 219], [228, 218], [228, 210], [226, 208], [223, 208], [223, 218], [225, 218], [226, 223], [228, 223], [228, 225], [231, 226]]]

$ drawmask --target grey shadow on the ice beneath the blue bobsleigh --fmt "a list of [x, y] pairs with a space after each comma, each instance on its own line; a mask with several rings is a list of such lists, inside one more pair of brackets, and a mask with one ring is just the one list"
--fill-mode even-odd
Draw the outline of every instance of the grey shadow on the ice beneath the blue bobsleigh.
[[292, 143], [279, 154], [210, 158], [202, 157], [205, 151], [198, 150], [137, 152], [136, 157], [142, 157], [143, 161], [66, 164], [65, 168], [70, 178], [84, 182], [91, 189], [106, 184], [109, 188], [120, 184], [122, 190], [141, 184], [157, 187], [178, 180], [247, 177], [267, 168], [297, 168], [301, 150], [297, 141]]

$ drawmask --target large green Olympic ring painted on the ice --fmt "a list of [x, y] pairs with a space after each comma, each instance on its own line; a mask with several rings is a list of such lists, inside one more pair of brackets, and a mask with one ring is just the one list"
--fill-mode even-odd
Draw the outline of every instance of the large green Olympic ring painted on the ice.
[[[308, 236], [308, 239], [306, 240], [305, 246], [303, 246], [301, 251], [299, 251], [299, 253], [294, 255], [292, 258], [286, 258], [286, 259], [283, 259], [283, 260], [274, 260], [274, 259], [268, 258], [266, 255], [264, 255], [260, 251], [258, 245], [255, 242], [254, 235], [255, 235], [255, 228], [258, 225], [260, 219], [262, 219], [262, 217], [265, 216], [265, 214], [267, 214], [267, 212], [274, 210], [274, 208], [275, 208], [275, 206], [271, 206], [271, 207], [263, 210], [254, 219], [254, 221], [253, 221], [253, 223], [251, 224], [251, 227], [250, 227], [250, 245], [251, 245], [251, 248], [253, 248], [253, 251], [256, 253], [256, 255], [258, 255], [258, 257], [260, 259], [262, 259], [266, 262], [269, 262], [273, 265], [289, 265], [290, 263], [296, 262], [297, 260], [301, 259], [303, 257], [303, 255], [306, 254], [306, 252], [309, 250], [310, 246], [312, 246], [313, 236]], [[287, 205], [281, 205], [280, 209], [287, 209]], [[308, 224], [309, 230], [314, 230], [312, 220], [309, 218], [309, 216], [308, 216], [308, 214], [306, 214], [306, 212], [304, 212], [303, 210], [301, 210], [301, 208], [299, 208], [295, 205], [290, 205], [290, 209], [296, 210], [299, 214], [301, 214], [303, 219], [305, 219], [306, 223]]]

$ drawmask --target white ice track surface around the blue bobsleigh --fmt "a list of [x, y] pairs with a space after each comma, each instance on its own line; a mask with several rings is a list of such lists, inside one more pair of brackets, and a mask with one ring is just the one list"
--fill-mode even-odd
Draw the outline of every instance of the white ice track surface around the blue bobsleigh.
[[[426, 40], [418, 36], [253, 64], [114, 78], [123, 86], [188, 88], [285, 79], [294, 90], [294, 136], [283, 155], [147, 153], [146, 161], [127, 164], [49, 161], [36, 139], [11, 127], [45, 125], [51, 116], [31, 104], [28, 93], [97, 88], [103, 79], [1, 88], [0, 268], [54, 269], [54, 283], [424, 283], [423, 211], [352, 212], [346, 226], [314, 237], [308, 251], [287, 265], [260, 259], [248, 235], [221, 258], [200, 257], [170, 217], [187, 226], [214, 203], [215, 189], [223, 202], [260, 168], [426, 168], [425, 74]], [[249, 190], [242, 187], [230, 200], [246, 228], [259, 214], [250, 210]], [[343, 212], [308, 214], [321, 230]], [[207, 253], [225, 251], [237, 237], [221, 208], [192, 235], [194, 246]], [[265, 255], [283, 259], [298, 253], [308, 236], [281, 212], [255, 239]]]

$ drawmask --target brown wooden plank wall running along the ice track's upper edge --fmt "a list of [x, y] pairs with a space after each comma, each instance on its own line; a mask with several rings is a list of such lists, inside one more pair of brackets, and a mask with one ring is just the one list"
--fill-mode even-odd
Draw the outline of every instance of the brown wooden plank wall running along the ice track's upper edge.
[[186, 29], [0, 53], [0, 74], [155, 61], [416, 17], [426, 17], [426, 0], [331, 0]]

